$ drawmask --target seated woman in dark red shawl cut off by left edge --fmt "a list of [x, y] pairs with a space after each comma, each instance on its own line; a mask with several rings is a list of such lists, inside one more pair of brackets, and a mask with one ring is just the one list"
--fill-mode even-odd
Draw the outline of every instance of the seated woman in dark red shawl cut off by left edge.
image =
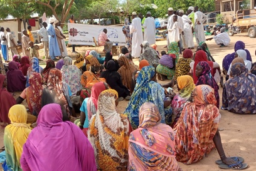
[[8, 118], [8, 112], [11, 106], [16, 105], [16, 101], [6, 90], [7, 80], [6, 76], [3, 74], [0, 74], [0, 122], [1, 127], [5, 127], [10, 122]]

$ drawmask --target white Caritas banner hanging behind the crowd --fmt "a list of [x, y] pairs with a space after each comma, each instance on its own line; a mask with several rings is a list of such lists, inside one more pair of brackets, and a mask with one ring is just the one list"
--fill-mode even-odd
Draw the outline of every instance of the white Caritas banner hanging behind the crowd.
[[125, 36], [122, 26], [98, 26], [91, 24], [68, 23], [68, 43], [95, 45], [93, 37], [98, 42], [98, 38], [103, 29], [107, 29], [107, 38], [114, 45], [125, 45]]

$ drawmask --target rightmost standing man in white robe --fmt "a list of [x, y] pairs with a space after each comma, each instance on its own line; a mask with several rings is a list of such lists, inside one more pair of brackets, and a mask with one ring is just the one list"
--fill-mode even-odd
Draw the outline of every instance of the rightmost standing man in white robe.
[[198, 6], [194, 9], [195, 12], [195, 37], [196, 37], [196, 43], [200, 43], [202, 41], [205, 41], [205, 31], [203, 29], [203, 23], [205, 23], [205, 20], [207, 16], [203, 14], [201, 11], [198, 11]]

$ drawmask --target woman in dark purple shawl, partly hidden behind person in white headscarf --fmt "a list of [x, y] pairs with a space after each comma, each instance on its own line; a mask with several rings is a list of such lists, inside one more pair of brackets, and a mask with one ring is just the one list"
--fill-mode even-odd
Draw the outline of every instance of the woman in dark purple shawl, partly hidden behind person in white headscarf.
[[[245, 43], [243, 43], [242, 41], [237, 41], [235, 43], [234, 49], [235, 49], [235, 52], [240, 49], [245, 50], [247, 53], [247, 60], [252, 61], [250, 52], [247, 49], [245, 49]], [[233, 52], [232, 54], [227, 54], [227, 56], [223, 58], [222, 66], [223, 68], [225, 68], [226, 71], [228, 71], [228, 68], [230, 67], [230, 64], [232, 63], [233, 59], [235, 59], [235, 52]]]

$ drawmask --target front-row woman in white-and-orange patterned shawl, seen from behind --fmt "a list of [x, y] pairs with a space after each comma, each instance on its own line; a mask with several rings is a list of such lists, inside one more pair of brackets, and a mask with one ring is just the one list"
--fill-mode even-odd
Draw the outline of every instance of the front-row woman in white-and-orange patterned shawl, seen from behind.
[[100, 93], [98, 111], [92, 116], [88, 140], [94, 148], [97, 170], [127, 170], [128, 140], [131, 126], [126, 115], [116, 111], [118, 93]]

